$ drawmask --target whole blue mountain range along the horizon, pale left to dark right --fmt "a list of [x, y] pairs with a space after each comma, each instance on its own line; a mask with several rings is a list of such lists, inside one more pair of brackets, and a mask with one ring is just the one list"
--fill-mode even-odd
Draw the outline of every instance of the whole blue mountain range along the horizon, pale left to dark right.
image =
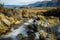
[[51, 6], [60, 6], [60, 1], [57, 2], [53, 2], [53, 1], [43, 1], [43, 2], [36, 2], [36, 3], [32, 3], [32, 4], [28, 4], [28, 5], [4, 5], [5, 8], [20, 8], [20, 7], [24, 7], [24, 6], [31, 6], [31, 7], [51, 7]]

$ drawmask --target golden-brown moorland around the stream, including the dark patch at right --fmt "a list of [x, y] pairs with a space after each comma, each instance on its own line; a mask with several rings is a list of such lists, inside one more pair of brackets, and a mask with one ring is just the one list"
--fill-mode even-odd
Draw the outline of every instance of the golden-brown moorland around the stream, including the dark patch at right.
[[[23, 7], [23, 8], [4, 8], [0, 7], [0, 36], [9, 34], [11, 28], [16, 29], [18, 25], [27, 22], [31, 18], [35, 18], [37, 25], [52, 27], [60, 23], [60, 8], [56, 7]], [[38, 20], [38, 21], [37, 21]], [[41, 30], [40, 26], [36, 26], [36, 30]], [[46, 29], [44, 29], [46, 30]], [[32, 29], [30, 30], [33, 31]], [[30, 32], [29, 31], [29, 32]], [[50, 31], [47, 31], [47, 33]], [[43, 34], [46, 32], [44, 31]], [[48, 33], [49, 34], [49, 33]], [[53, 32], [51, 33], [53, 34]], [[42, 38], [46, 38], [43, 35]], [[55, 40], [55, 39], [54, 39]]]

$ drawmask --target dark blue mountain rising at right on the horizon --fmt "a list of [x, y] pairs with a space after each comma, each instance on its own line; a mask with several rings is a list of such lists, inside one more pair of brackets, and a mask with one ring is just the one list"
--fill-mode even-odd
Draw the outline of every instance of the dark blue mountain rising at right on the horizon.
[[43, 1], [43, 2], [36, 2], [33, 4], [29, 4], [28, 6], [32, 6], [32, 7], [42, 7], [42, 6], [60, 6], [60, 2], [53, 2], [53, 1]]

